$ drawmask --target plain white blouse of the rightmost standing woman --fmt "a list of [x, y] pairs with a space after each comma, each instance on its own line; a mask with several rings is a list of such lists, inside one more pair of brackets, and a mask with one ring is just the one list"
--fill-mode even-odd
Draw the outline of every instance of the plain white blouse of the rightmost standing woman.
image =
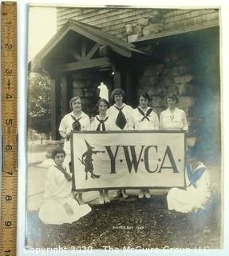
[[188, 122], [184, 110], [175, 108], [173, 114], [169, 109], [160, 113], [160, 130], [188, 130]]

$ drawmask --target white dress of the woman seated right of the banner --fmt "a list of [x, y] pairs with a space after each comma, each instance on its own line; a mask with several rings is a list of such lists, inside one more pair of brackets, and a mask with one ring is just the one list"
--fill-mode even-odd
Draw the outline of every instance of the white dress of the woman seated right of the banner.
[[[196, 170], [202, 167], [206, 168], [202, 162], [199, 162], [199, 166], [195, 168], [195, 170], [192, 172], [195, 173]], [[211, 197], [211, 178], [210, 173], [207, 169], [204, 170], [201, 177], [195, 182], [195, 186], [190, 186], [191, 181], [188, 178], [186, 168], [185, 182], [186, 190], [172, 188], [168, 191], [168, 210], [176, 210], [182, 213], [190, 213], [193, 210], [203, 209], [203, 206]]]

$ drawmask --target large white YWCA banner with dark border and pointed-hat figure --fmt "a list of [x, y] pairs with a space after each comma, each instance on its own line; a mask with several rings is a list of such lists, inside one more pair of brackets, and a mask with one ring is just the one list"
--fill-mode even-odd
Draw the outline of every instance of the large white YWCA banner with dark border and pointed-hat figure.
[[184, 132], [76, 132], [76, 190], [184, 186]]

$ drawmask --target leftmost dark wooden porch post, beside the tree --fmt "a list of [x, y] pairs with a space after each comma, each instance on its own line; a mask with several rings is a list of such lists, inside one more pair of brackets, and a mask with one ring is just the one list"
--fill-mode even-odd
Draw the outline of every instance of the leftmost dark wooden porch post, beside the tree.
[[61, 81], [60, 78], [52, 79], [51, 82], [51, 138], [59, 140], [59, 125], [61, 122]]

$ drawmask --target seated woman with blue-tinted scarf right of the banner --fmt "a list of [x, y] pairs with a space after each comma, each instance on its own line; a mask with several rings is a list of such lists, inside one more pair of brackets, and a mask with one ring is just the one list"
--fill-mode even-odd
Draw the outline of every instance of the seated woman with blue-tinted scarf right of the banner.
[[186, 190], [172, 188], [168, 191], [168, 210], [190, 213], [203, 209], [211, 198], [210, 173], [202, 162], [198, 162], [198, 152], [195, 149], [188, 150], [187, 160]]

